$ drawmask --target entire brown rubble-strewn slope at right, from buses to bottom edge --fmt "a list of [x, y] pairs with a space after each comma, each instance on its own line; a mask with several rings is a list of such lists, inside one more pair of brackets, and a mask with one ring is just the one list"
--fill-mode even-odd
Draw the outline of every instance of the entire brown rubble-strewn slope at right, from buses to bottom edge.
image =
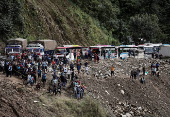
[[[160, 77], [151, 75], [151, 63], [159, 63]], [[170, 64], [159, 59], [112, 59], [100, 60], [99, 63], [89, 62], [90, 75], [82, 78], [89, 94], [117, 117], [133, 116], [167, 116], [170, 103]], [[111, 66], [114, 66], [113, 77]], [[130, 79], [131, 70], [145, 66], [146, 84], [140, 79]], [[95, 77], [94, 77], [95, 76]], [[106, 78], [106, 79], [105, 79]], [[100, 80], [101, 79], [101, 80]], [[126, 103], [124, 101], [126, 100]], [[167, 116], [168, 117], [168, 116]]]

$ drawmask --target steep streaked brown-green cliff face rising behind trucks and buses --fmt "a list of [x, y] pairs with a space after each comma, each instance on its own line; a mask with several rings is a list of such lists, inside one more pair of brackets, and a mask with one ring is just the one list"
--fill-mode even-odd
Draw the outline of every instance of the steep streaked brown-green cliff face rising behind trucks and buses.
[[11, 38], [55, 39], [58, 46], [107, 44], [108, 39], [112, 39], [97, 20], [68, 0], [18, 2], [22, 8], [20, 11], [22, 26], [13, 31]]

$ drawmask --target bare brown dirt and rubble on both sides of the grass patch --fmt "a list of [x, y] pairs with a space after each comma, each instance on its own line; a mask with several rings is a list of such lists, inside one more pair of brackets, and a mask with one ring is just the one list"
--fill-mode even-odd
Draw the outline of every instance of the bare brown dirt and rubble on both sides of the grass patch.
[[[160, 63], [159, 78], [151, 76], [151, 62]], [[82, 63], [84, 62], [82, 61]], [[111, 65], [115, 67], [113, 77], [110, 77]], [[130, 71], [136, 68], [142, 70], [142, 66], [145, 66], [148, 72], [148, 75], [145, 76], [146, 84], [140, 83], [142, 73], [138, 79], [130, 79]], [[83, 66], [78, 77], [86, 86], [86, 95], [100, 103], [108, 116], [169, 117], [170, 65], [166, 60], [128, 58], [126, 60], [101, 60], [99, 63], [89, 61], [89, 67], [89, 75], [82, 73]], [[6, 78], [4, 74], [0, 73], [0, 115], [2, 117], [54, 115], [48, 112], [49, 107], [37, 106], [37, 103], [34, 102], [37, 97], [47, 93], [46, 89], [51, 78], [49, 72], [46, 87], [36, 91], [32, 90], [30, 86], [25, 87], [21, 78]], [[68, 87], [69, 82], [67, 88], [63, 90], [62, 96], [73, 98], [72, 91]], [[42, 113], [44, 108], [46, 108], [44, 111], [46, 114]]]

